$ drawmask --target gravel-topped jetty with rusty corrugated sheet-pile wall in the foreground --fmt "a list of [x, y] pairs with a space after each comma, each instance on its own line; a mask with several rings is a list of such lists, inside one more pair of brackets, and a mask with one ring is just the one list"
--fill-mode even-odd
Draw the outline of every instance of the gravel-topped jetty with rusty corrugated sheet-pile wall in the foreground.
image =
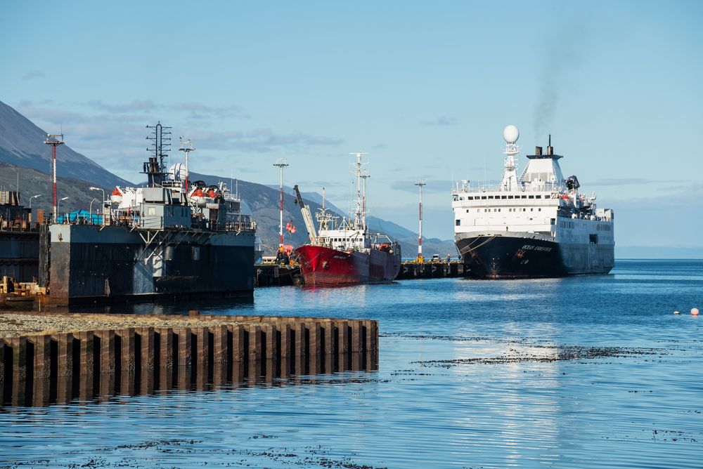
[[[25, 333], [42, 321], [54, 325]], [[6, 405], [378, 368], [378, 322], [368, 319], [53, 312], [0, 324]]]

